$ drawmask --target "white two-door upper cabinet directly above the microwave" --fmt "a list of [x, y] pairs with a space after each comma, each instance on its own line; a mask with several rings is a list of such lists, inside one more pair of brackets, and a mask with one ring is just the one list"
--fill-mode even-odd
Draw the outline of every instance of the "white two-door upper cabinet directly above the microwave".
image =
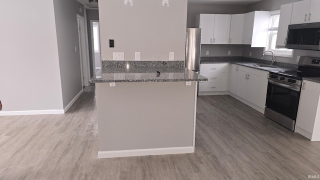
[[320, 21], [320, 0], [301, 0], [293, 2], [291, 23], [308, 23]]

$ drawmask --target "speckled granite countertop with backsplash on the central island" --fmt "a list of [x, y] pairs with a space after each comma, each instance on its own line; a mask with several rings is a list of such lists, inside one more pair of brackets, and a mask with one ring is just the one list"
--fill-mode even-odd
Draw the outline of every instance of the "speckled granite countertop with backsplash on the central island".
[[101, 73], [92, 77], [90, 82], [207, 81], [206, 77], [184, 68], [183, 65], [184, 61], [102, 62]]

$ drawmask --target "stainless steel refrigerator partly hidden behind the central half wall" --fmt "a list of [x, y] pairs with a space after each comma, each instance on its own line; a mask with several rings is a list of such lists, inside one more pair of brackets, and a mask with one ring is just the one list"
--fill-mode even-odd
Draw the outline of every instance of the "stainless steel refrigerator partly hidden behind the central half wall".
[[201, 51], [201, 29], [186, 28], [185, 38], [185, 67], [193, 70], [200, 70], [200, 51]]

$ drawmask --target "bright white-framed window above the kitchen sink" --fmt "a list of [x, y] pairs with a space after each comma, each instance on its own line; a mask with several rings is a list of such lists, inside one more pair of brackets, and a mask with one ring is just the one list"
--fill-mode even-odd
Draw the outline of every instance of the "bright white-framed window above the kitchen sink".
[[[276, 34], [278, 31], [280, 10], [271, 11], [268, 38], [265, 50], [272, 50], [277, 56], [292, 57], [292, 49], [276, 48]], [[271, 54], [271, 53], [270, 53]]]

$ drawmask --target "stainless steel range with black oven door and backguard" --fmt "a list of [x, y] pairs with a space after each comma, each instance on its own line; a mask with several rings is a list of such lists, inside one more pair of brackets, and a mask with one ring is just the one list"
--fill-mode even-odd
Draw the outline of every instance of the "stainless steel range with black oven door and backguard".
[[269, 73], [264, 115], [294, 130], [302, 77], [320, 77], [320, 58], [301, 56], [297, 70]]

